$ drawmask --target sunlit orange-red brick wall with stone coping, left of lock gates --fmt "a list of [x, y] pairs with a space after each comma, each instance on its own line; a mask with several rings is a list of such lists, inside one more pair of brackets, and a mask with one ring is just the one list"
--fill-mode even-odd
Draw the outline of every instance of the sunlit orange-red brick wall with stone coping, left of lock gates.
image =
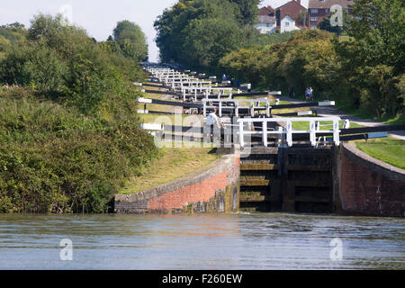
[[116, 213], [238, 211], [239, 158], [225, 155], [198, 175], [141, 193], [115, 195]]

